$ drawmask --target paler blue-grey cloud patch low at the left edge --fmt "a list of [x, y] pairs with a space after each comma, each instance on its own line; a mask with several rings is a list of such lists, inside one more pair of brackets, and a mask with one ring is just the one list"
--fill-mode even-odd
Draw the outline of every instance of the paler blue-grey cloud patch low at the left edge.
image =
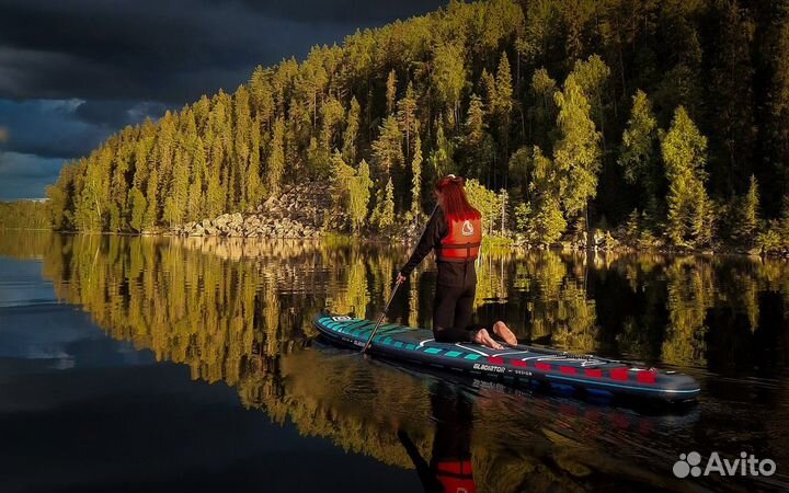
[[57, 181], [64, 160], [19, 152], [0, 152], [0, 200], [43, 198]]

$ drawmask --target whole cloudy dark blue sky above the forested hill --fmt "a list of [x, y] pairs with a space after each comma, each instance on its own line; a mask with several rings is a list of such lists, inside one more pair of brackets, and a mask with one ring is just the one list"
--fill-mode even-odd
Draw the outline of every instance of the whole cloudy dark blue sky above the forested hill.
[[235, 91], [258, 65], [446, 0], [0, 0], [0, 200], [128, 124]]

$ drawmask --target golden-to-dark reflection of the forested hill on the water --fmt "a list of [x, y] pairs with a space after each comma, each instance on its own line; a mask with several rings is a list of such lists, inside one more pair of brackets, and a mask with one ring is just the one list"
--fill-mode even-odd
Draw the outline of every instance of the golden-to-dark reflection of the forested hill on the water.
[[[700, 380], [690, 413], [648, 415], [451, 381], [313, 341], [311, 319], [323, 308], [376, 314], [404, 249], [10, 233], [0, 254], [43, 259], [59, 300], [82, 307], [112, 337], [186, 365], [193, 379], [227, 382], [276, 423], [413, 470], [428, 491], [450, 468], [478, 491], [685, 490], [694, 483], [670, 471], [693, 448], [789, 463], [780, 417], [789, 410], [786, 262], [545, 251], [481, 259], [480, 321], [504, 318], [519, 339]], [[393, 319], [428, 323], [433, 276], [415, 274]], [[785, 477], [737, 481], [701, 483], [788, 485]]]

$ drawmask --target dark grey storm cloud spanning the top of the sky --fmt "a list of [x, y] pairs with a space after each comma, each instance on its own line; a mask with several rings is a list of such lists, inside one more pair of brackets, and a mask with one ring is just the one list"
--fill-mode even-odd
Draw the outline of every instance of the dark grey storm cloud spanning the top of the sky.
[[182, 104], [233, 90], [258, 65], [304, 57], [356, 27], [435, 0], [4, 0], [0, 98], [144, 99]]

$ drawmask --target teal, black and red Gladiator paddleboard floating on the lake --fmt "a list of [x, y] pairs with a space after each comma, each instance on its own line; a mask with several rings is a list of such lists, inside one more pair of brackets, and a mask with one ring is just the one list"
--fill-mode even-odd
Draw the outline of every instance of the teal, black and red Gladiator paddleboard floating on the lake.
[[[318, 316], [315, 324], [330, 341], [358, 348], [375, 328], [370, 320], [331, 314]], [[545, 382], [556, 388], [668, 402], [689, 401], [700, 392], [698, 382], [684, 374], [529, 346], [496, 351], [472, 343], [438, 343], [431, 331], [393, 323], [381, 324], [368, 351], [513, 386]]]

